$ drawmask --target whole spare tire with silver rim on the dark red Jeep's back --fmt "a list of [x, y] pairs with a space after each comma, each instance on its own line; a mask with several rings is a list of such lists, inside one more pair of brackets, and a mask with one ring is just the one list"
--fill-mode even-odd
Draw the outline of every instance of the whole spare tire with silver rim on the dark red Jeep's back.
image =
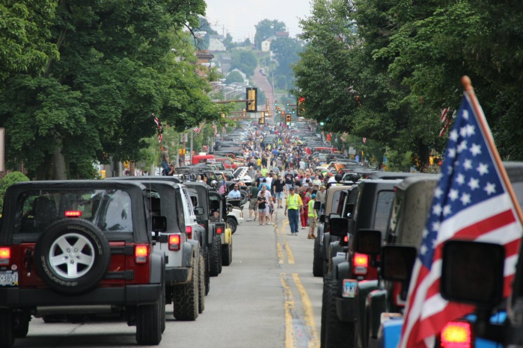
[[89, 291], [104, 277], [111, 259], [102, 231], [82, 219], [63, 219], [50, 225], [35, 245], [35, 268], [55, 292]]

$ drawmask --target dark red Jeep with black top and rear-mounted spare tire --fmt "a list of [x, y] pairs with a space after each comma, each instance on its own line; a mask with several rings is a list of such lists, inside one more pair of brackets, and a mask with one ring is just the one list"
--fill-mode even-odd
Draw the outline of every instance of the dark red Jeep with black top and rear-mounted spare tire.
[[[165, 260], [153, 252], [147, 189], [124, 181], [10, 186], [0, 227], [0, 345], [25, 337], [31, 316], [118, 311], [142, 345], [165, 329]], [[159, 227], [158, 230], [162, 230]]]

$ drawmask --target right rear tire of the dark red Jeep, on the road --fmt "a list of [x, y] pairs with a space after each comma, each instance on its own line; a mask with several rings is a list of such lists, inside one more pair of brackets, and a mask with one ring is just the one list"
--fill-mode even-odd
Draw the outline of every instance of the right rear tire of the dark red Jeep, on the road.
[[136, 308], [136, 341], [139, 345], [158, 345], [162, 341], [162, 299]]

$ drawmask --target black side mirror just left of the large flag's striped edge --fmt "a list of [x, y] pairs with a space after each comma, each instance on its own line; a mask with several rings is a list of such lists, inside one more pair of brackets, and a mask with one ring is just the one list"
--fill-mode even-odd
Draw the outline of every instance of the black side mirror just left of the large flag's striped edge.
[[417, 250], [414, 247], [386, 245], [381, 252], [381, 275], [384, 280], [408, 282], [416, 261]]

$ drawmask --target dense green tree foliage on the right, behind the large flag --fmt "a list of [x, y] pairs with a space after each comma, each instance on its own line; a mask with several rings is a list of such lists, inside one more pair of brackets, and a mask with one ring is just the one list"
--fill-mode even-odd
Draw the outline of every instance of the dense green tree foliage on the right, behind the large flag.
[[444, 152], [439, 115], [459, 108], [469, 75], [500, 154], [523, 159], [522, 10], [509, 1], [313, 0], [293, 92], [326, 130], [380, 139], [424, 168], [430, 149]]

